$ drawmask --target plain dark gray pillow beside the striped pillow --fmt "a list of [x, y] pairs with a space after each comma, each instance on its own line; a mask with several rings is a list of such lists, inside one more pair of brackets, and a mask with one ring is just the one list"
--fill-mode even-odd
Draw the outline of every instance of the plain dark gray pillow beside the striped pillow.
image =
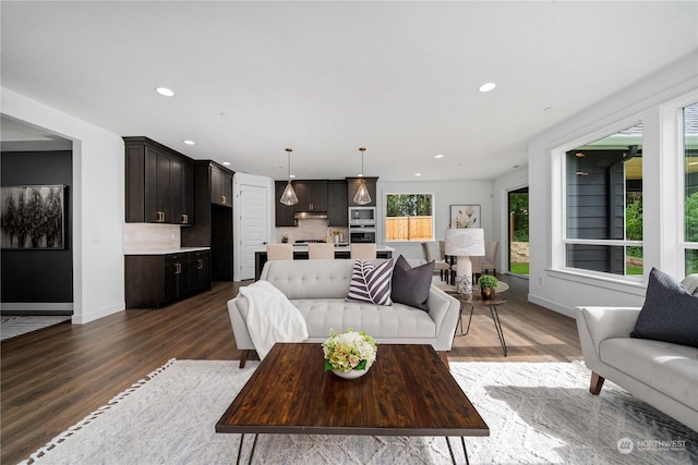
[[393, 270], [393, 302], [429, 311], [426, 301], [433, 276], [433, 261], [412, 268], [400, 255]]

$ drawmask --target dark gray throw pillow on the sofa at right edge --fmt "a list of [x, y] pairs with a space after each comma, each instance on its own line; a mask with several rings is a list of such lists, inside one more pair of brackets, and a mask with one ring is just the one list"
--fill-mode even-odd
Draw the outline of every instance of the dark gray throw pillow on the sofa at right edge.
[[645, 304], [630, 338], [698, 347], [698, 296], [688, 293], [665, 272], [652, 268]]

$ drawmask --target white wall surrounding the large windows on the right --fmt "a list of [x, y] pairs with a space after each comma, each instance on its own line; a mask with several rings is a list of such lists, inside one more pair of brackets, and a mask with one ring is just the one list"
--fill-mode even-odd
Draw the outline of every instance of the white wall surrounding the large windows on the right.
[[[667, 201], [676, 189], [676, 162], [679, 155], [669, 149], [659, 122], [663, 105], [672, 99], [696, 96], [698, 99], [698, 56], [691, 54], [625, 90], [592, 105], [585, 111], [553, 126], [529, 142], [530, 281], [529, 299], [562, 314], [574, 316], [578, 305], [635, 305], [645, 301], [647, 273], [652, 266], [681, 278], [683, 266], [666, 256], [665, 243], [675, 242], [678, 229], [677, 205]], [[588, 277], [555, 269], [559, 262], [559, 234], [564, 219], [556, 217], [562, 198], [552, 179], [562, 176], [562, 166], [553, 157], [561, 146], [593, 140], [591, 134], [607, 135], [609, 127], [641, 120], [643, 123], [643, 241], [645, 280], [627, 282], [607, 277]], [[627, 126], [626, 126], [627, 127]], [[569, 146], [571, 148], [573, 146]], [[673, 194], [672, 194], [673, 195]]]

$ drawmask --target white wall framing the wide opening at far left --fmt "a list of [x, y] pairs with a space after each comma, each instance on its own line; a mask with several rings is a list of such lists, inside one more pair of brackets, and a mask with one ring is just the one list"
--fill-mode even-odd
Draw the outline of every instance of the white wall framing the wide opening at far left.
[[1, 111], [73, 140], [73, 323], [123, 310], [123, 140], [5, 88]]

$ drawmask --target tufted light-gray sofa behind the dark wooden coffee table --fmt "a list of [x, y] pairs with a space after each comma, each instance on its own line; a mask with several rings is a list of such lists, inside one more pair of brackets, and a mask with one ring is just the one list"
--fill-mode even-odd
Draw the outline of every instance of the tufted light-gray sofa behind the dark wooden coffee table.
[[[411, 260], [410, 260], [411, 261]], [[460, 303], [432, 285], [429, 311], [394, 303], [347, 302], [353, 260], [273, 260], [262, 270], [261, 280], [279, 289], [301, 311], [308, 326], [308, 342], [322, 343], [329, 330], [352, 328], [371, 334], [378, 344], [431, 344], [447, 364], [460, 315]], [[246, 298], [240, 294], [228, 302], [228, 313], [238, 350], [240, 367], [254, 350], [245, 325]]]

